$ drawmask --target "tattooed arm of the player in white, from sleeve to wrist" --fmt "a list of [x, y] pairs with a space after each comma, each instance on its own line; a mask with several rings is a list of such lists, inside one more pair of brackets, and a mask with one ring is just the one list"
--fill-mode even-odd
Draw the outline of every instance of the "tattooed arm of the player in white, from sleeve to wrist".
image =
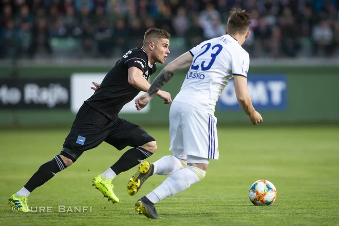
[[174, 73], [178, 70], [187, 69], [192, 64], [192, 55], [189, 52], [186, 52], [179, 56], [174, 61], [168, 63], [162, 71], [158, 74], [157, 78], [154, 80], [152, 85], [149, 87], [147, 94], [150, 98], [153, 98], [157, 91], [165, 85], [168, 81], [172, 79]]

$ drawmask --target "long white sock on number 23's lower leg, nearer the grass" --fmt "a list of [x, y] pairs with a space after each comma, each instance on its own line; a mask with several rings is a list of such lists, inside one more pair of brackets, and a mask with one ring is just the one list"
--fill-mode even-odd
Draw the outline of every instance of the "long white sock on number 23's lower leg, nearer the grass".
[[160, 186], [146, 195], [146, 197], [149, 201], [157, 203], [166, 197], [173, 196], [189, 188], [191, 184], [202, 180], [205, 174], [206, 172], [200, 168], [187, 165], [186, 168], [174, 172], [171, 176], [167, 177]]

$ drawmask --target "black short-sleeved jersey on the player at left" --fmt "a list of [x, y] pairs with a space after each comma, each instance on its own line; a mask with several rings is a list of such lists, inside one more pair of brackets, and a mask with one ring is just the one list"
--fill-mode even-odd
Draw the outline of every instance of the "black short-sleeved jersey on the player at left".
[[108, 71], [100, 87], [85, 102], [108, 118], [117, 117], [121, 108], [140, 92], [128, 83], [128, 68], [130, 67], [142, 70], [147, 81], [149, 76], [157, 70], [155, 64], [150, 65], [143, 49], [140, 47], [131, 49]]

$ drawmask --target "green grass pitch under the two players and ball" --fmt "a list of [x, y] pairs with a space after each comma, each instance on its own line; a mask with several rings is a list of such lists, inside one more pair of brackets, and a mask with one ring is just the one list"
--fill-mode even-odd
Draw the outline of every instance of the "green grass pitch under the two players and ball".
[[[168, 128], [146, 128], [158, 141], [155, 161], [170, 155]], [[220, 159], [206, 177], [159, 202], [160, 220], [134, 212], [136, 200], [164, 176], [148, 179], [134, 197], [126, 192], [136, 171], [114, 179], [120, 203], [112, 204], [91, 186], [122, 154], [103, 143], [67, 170], [38, 187], [31, 206], [52, 206], [53, 213], [13, 213], [8, 198], [44, 162], [59, 154], [68, 129], [1, 130], [0, 225], [339, 225], [339, 127], [220, 127]], [[254, 206], [250, 185], [270, 180], [277, 189], [271, 206]], [[58, 213], [58, 206], [91, 206], [92, 213]]]

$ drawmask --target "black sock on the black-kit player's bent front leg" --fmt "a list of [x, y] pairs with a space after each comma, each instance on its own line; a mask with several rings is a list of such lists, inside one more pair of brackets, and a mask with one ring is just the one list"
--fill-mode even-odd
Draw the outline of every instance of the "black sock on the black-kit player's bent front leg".
[[152, 154], [152, 152], [148, 152], [148, 150], [142, 147], [130, 148], [110, 168], [118, 175], [121, 172], [128, 171], [130, 168], [138, 165], [142, 160], [148, 158]]

